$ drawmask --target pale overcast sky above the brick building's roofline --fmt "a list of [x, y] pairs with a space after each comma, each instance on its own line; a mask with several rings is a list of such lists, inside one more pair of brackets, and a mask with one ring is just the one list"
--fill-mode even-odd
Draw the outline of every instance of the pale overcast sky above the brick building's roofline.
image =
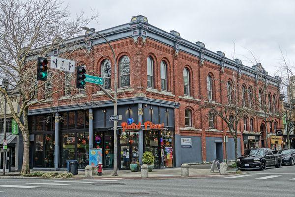
[[[176, 30], [193, 43], [232, 59], [257, 62], [274, 75], [281, 62], [280, 49], [295, 62], [295, 0], [64, 0], [73, 13], [91, 8], [99, 13], [102, 30], [130, 22], [138, 14], [167, 32]], [[234, 44], [235, 43], [235, 44]], [[234, 50], [235, 46], [235, 50]], [[247, 50], [248, 49], [248, 50]]]

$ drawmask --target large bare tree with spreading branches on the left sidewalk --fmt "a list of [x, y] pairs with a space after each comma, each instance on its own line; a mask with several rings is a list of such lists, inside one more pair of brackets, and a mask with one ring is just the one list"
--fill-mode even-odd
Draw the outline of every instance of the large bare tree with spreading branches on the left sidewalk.
[[[64, 94], [64, 87], [73, 85], [66, 84], [65, 75], [68, 73], [50, 70], [47, 81], [36, 81], [36, 57], [46, 57], [54, 50], [61, 57], [82, 56], [79, 53], [85, 53], [85, 46], [80, 44], [81, 37], [74, 37], [79, 35], [81, 27], [97, 18], [92, 12], [87, 19], [82, 12], [70, 20], [69, 13], [68, 7], [57, 0], [0, 0], [0, 78], [7, 78], [9, 85], [19, 94], [19, 111], [14, 110], [12, 97], [5, 89], [0, 87], [0, 93], [6, 97], [13, 119], [23, 135], [21, 174], [30, 173], [29, 107], [47, 101], [54, 94]], [[69, 93], [77, 92], [71, 86]]]

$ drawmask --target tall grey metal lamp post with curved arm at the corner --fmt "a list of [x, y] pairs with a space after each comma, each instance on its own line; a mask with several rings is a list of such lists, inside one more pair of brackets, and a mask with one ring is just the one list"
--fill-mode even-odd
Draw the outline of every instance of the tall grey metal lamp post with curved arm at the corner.
[[[110, 46], [111, 50], [112, 50], [112, 53], [113, 53], [113, 58], [114, 58], [114, 98], [110, 97], [108, 94], [108, 96], [113, 99], [113, 102], [114, 102], [114, 116], [117, 115], [117, 60], [116, 60], [116, 55], [115, 55], [115, 52], [114, 52], [114, 49], [111, 45], [111, 43], [103, 36], [101, 35], [100, 33], [97, 33], [97, 32], [94, 32], [93, 30], [90, 30], [88, 27], [82, 27], [83, 30], [86, 30], [86, 31], [89, 31], [89, 32], [92, 32], [92, 33], [96, 33], [97, 35], [99, 35], [100, 37], [102, 37], [107, 43], [108, 45]], [[103, 89], [103, 87], [99, 86], [99, 88]], [[104, 89], [103, 89], [104, 90]], [[104, 92], [106, 92], [104, 90]], [[117, 157], [118, 157], [118, 147], [117, 147], [117, 120], [114, 120], [114, 166], [113, 166], [113, 176], [118, 176], [118, 173], [117, 173]]]

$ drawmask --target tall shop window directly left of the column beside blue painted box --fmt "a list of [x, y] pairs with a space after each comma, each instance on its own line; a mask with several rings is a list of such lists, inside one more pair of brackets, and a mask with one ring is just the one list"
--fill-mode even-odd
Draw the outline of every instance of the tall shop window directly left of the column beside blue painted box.
[[89, 165], [89, 132], [77, 133], [77, 160], [79, 168]]

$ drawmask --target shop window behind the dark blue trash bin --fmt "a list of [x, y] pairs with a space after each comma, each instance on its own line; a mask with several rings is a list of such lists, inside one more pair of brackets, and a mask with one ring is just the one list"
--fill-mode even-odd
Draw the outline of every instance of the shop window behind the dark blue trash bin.
[[61, 168], [67, 167], [67, 160], [75, 159], [75, 133], [61, 135]]

